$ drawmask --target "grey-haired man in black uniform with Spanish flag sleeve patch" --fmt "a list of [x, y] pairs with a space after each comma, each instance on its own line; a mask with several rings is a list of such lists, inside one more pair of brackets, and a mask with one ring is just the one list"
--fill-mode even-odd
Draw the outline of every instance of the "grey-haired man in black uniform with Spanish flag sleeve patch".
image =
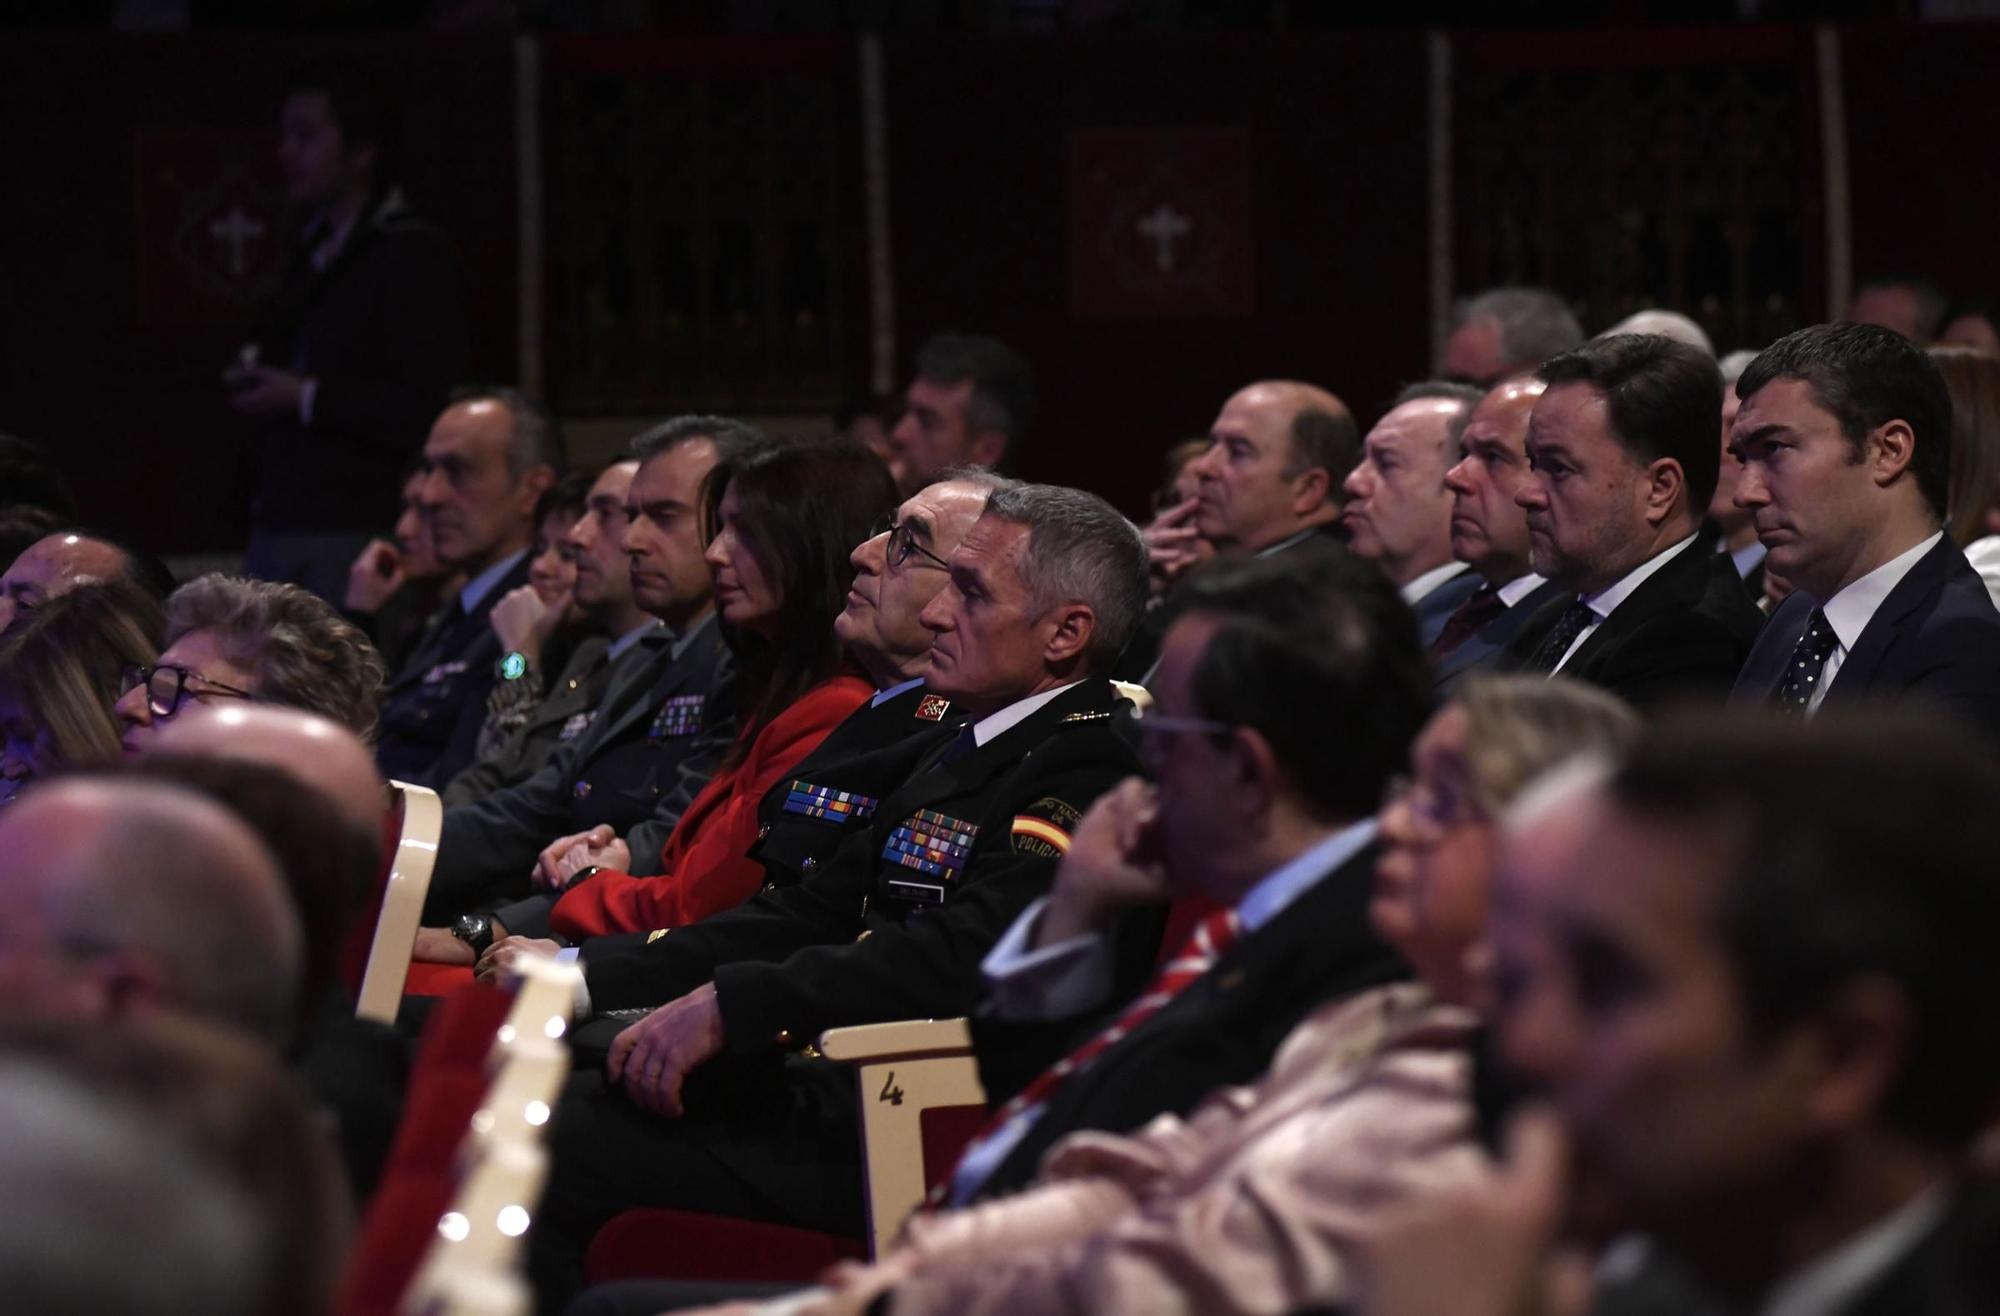
[[[558, 1112], [532, 1262], [548, 1310], [626, 1206], [858, 1230], [852, 1082], [788, 1052], [822, 1028], [978, 1004], [980, 956], [1048, 888], [1082, 810], [1138, 768], [1102, 672], [1144, 598], [1144, 544], [1100, 498], [996, 490], [922, 612], [930, 688], [970, 724], [800, 882], [586, 956], [594, 1010], [670, 1004], [620, 1032], [608, 1084], [580, 1076]], [[1120, 976], [1136, 982], [1154, 950], [1134, 944]]]

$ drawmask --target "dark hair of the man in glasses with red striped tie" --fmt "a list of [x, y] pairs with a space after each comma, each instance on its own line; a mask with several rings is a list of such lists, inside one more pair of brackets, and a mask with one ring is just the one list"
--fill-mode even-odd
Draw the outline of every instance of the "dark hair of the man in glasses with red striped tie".
[[1212, 562], [1170, 606], [1220, 622], [1194, 668], [1200, 714], [1258, 732], [1326, 816], [1364, 818], [1430, 716], [1430, 666], [1396, 586], [1328, 548]]

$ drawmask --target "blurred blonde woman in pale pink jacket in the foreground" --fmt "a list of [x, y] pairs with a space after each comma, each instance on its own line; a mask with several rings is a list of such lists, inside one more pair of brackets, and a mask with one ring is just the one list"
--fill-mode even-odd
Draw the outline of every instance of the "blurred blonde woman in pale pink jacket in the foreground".
[[[824, 1310], [864, 1308], [888, 1286], [890, 1316], [1348, 1300], [1348, 1254], [1368, 1218], [1484, 1164], [1466, 1050], [1490, 1004], [1468, 960], [1486, 932], [1500, 812], [1552, 764], [1608, 752], [1636, 730], [1588, 686], [1466, 682], [1418, 736], [1414, 776], [1380, 812], [1372, 918], [1418, 982], [1318, 1006], [1284, 1036], [1268, 1074], [1216, 1088], [1186, 1120], [1070, 1134], [1022, 1192], [914, 1216], [896, 1250], [840, 1276]], [[1124, 806], [1114, 794], [1092, 808], [1072, 864], [1122, 862], [1114, 824]], [[794, 1310], [822, 1308], [800, 1300]]]

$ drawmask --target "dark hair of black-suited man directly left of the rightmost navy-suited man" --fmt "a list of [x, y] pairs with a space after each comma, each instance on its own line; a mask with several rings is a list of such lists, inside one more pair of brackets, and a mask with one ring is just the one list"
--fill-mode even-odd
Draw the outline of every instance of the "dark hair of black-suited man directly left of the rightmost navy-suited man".
[[1590, 384], [1604, 394], [1612, 434], [1640, 462], [1670, 458], [1700, 516], [1722, 474], [1722, 372], [1700, 348], [1660, 334], [1614, 334], [1542, 362], [1550, 388]]

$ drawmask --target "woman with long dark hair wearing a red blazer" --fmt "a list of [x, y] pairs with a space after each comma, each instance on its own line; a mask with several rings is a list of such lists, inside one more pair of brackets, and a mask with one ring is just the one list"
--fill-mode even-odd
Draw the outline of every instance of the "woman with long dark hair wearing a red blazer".
[[[888, 468], [846, 440], [766, 444], [718, 462], [702, 502], [740, 730], [666, 838], [660, 874], [574, 880], [548, 914], [562, 936], [678, 928], [742, 904], [764, 876], [750, 858], [758, 802], [874, 694], [834, 618], [848, 552], [896, 506]], [[452, 934], [472, 964], [506, 928], [468, 914]]]

